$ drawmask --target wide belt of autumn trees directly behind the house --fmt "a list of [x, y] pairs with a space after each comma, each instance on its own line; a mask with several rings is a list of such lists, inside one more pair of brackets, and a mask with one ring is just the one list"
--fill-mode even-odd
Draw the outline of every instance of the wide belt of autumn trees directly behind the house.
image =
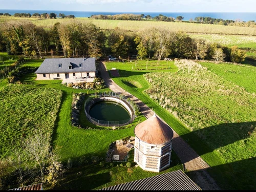
[[177, 57], [242, 62], [246, 51], [190, 38], [185, 32], [151, 29], [143, 32], [102, 30], [92, 23], [56, 23], [44, 29], [31, 22], [3, 23], [0, 28], [0, 50], [25, 56], [45, 55], [52, 50], [64, 57], [101, 57], [115, 55], [129, 59]]

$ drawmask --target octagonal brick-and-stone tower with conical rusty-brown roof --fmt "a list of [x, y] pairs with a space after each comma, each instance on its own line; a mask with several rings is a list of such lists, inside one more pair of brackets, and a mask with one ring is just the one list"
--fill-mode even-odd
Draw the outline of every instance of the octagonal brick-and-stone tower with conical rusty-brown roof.
[[156, 114], [135, 127], [134, 161], [143, 169], [160, 172], [170, 165], [173, 130]]

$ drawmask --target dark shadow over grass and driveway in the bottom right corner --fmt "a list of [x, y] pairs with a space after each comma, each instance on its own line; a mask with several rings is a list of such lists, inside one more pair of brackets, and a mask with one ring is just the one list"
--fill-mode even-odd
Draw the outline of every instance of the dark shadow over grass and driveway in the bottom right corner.
[[208, 186], [203, 187], [200, 180], [197, 179], [200, 178], [199, 176], [203, 177], [205, 171], [215, 179], [222, 190], [256, 189], [256, 157], [187, 172], [186, 175], [202, 190], [208, 190]]

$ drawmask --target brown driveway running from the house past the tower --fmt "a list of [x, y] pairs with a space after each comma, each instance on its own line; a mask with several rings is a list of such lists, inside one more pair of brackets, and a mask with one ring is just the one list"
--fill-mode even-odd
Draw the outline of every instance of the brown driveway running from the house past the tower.
[[[140, 111], [146, 118], [150, 118], [152, 115], [154, 115], [154, 112], [150, 108], [148, 108], [147, 105], [145, 105], [137, 97], [120, 88], [110, 78], [108, 71], [106, 71], [104, 62], [100, 62], [99, 65], [101, 78], [104, 79], [107, 87], [109, 87], [113, 92], [122, 93], [126, 97], [129, 97], [131, 100], [134, 100], [140, 106]], [[198, 186], [201, 187], [201, 189], [203, 190], [220, 190], [214, 179], [212, 179], [205, 170], [207, 168], [210, 168], [209, 165], [174, 130], [173, 132], [173, 150], [180, 158], [184, 169], [188, 170], [189, 172], [193, 172], [192, 175], [194, 182], [197, 183]]]

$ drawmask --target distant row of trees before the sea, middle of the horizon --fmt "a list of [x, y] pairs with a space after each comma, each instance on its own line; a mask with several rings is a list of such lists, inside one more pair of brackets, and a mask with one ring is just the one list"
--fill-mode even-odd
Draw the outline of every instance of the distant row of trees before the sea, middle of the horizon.
[[[163, 22], [175, 21], [175, 18], [167, 17], [162, 14], [159, 14], [158, 16], [155, 16], [155, 17], [152, 17], [151, 15], [144, 15], [144, 14], [92, 15], [90, 18], [107, 19], [107, 20], [157, 20], [157, 21], [163, 21]], [[183, 19], [183, 17], [181, 16], [177, 18]]]

